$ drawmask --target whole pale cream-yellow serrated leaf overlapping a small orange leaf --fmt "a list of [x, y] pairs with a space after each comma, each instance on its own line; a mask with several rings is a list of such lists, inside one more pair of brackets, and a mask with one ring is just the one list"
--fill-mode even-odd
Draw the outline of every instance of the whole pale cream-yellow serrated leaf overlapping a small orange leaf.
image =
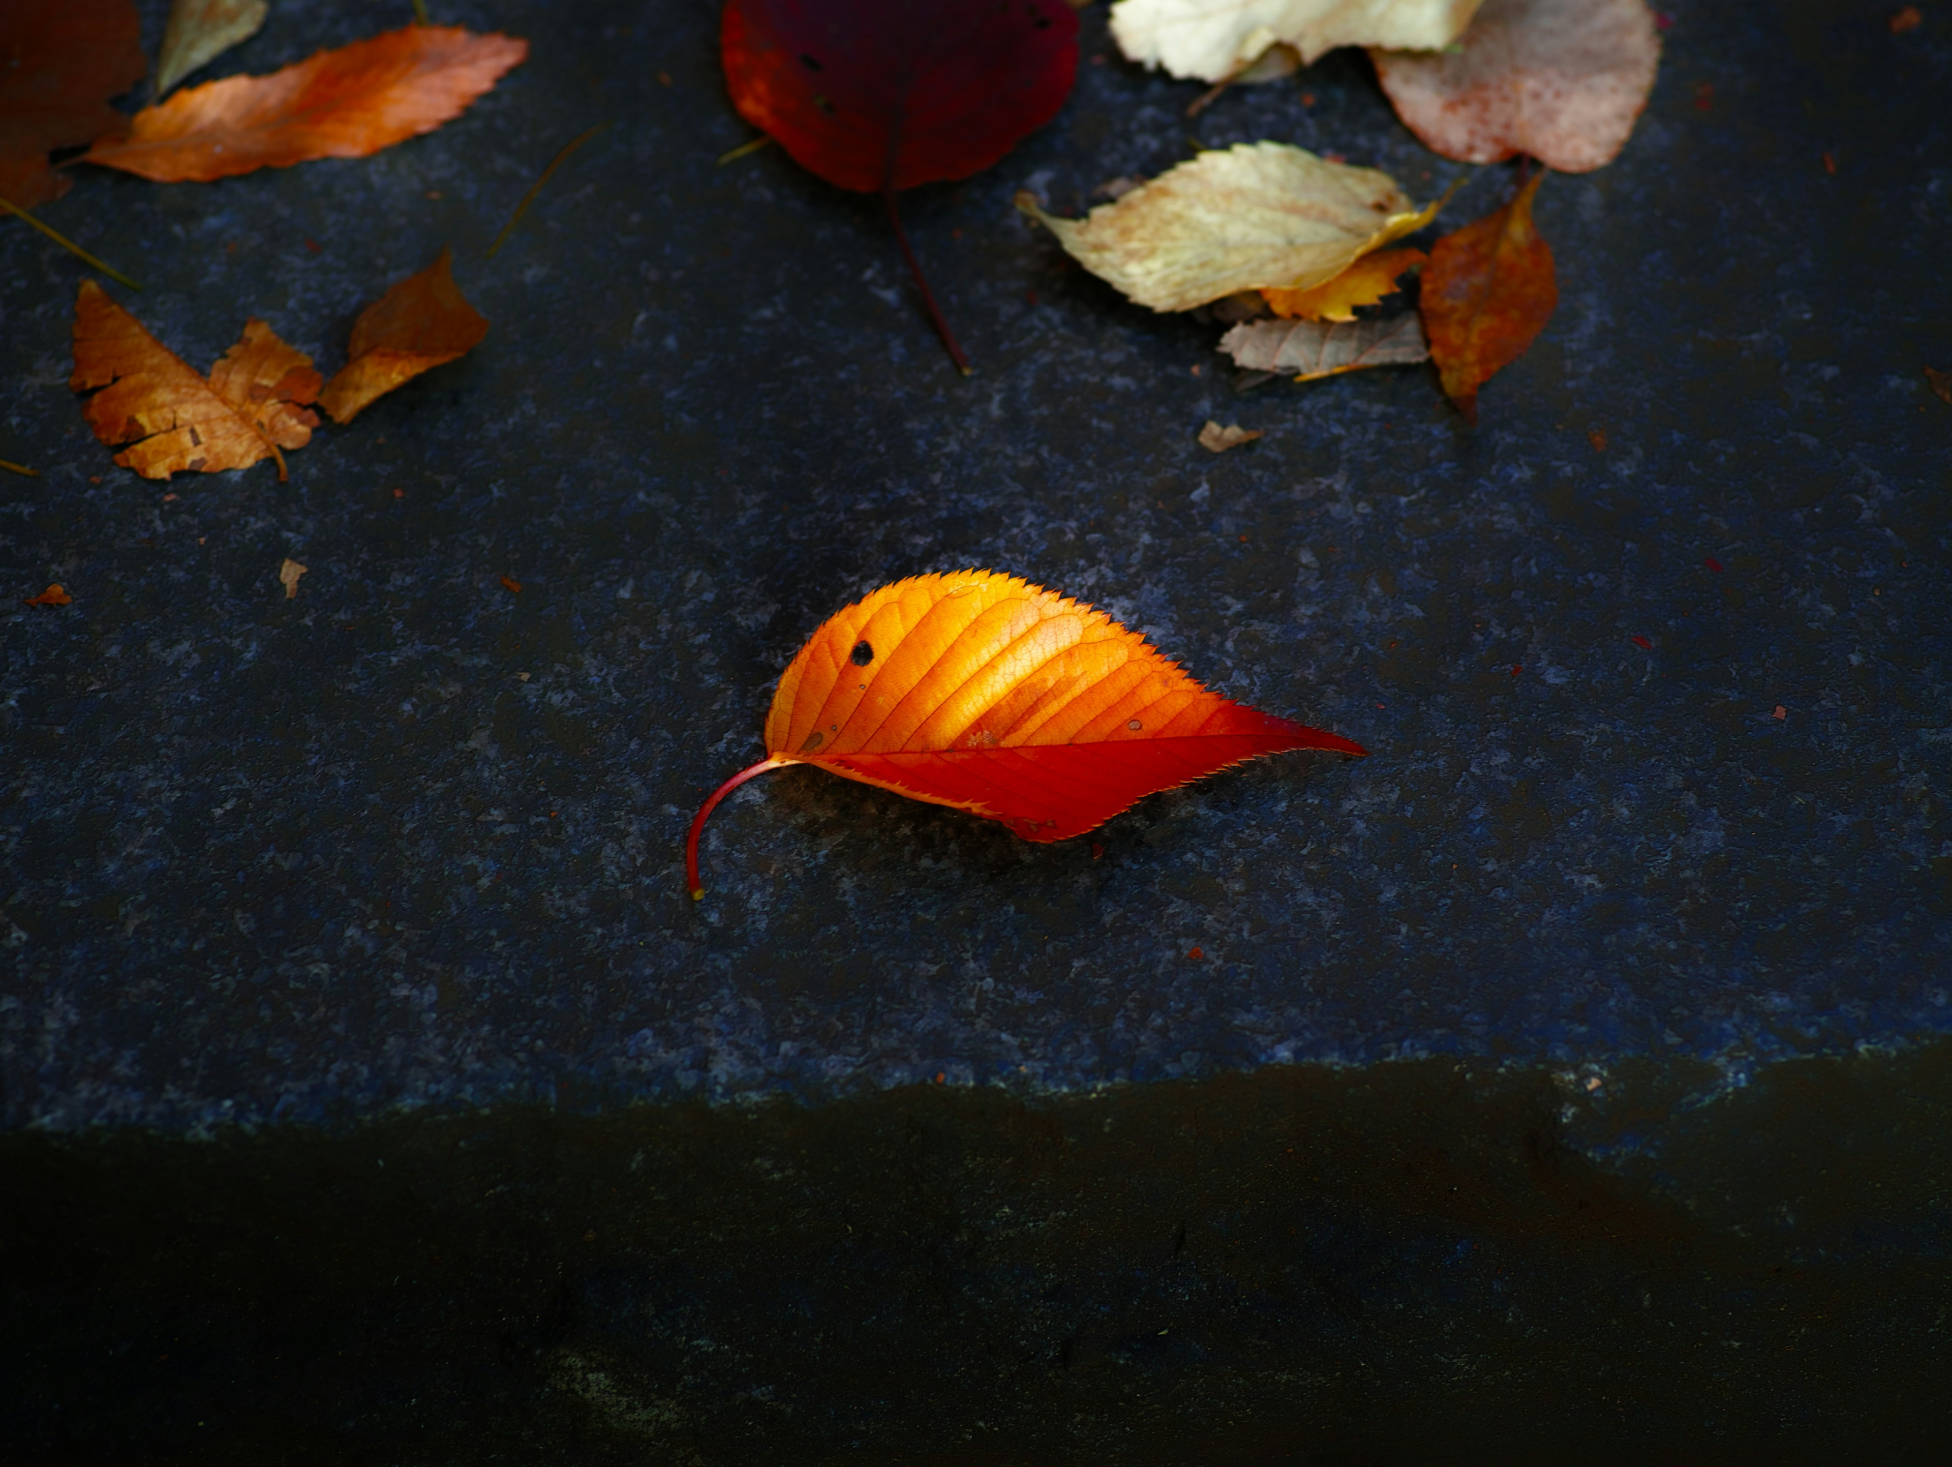
[[1202, 152], [1093, 209], [1038, 219], [1093, 275], [1154, 311], [1189, 311], [1222, 295], [1308, 289], [1437, 217], [1374, 168], [1327, 162], [1286, 143]]

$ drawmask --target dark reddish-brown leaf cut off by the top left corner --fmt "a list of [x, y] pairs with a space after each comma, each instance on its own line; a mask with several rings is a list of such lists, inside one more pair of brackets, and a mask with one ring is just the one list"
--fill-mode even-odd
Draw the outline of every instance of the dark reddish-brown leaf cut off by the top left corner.
[[33, 209], [66, 193], [72, 180], [47, 166], [49, 150], [123, 127], [107, 100], [146, 70], [129, 0], [0, 4], [0, 199]]

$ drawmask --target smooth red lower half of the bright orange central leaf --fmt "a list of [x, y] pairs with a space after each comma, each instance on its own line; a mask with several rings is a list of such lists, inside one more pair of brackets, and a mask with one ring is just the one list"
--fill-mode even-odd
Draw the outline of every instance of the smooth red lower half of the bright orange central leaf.
[[1189, 738], [1120, 738], [1093, 744], [1019, 744], [910, 754], [808, 758], [835, 774], [898, 789], [912, 799], [970, 809], [1025, 840], [1070, 840], [1105, 824], [1158, 789], [1202, 779], [1261, 754], [1327, 748], [1366, 754], [1341, 734], [1238, 709], [1240, 733]]

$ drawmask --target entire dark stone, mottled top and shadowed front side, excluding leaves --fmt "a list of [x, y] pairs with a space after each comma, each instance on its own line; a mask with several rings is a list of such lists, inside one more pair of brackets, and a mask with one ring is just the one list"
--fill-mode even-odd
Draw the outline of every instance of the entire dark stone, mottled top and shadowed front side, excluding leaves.
[[[1103, 8], [904, 201], [970, 381], [876, 203], [714, 166], [709, 4], [441, 0], [535, 43], [449, 127], [47, 209], [199, 367], [258, 314], [330, 371], [455, 244], [486, 344], [291, 484], [113, 469], [0, 223], [12, 1455], [1946, 1459], [1952, 25], [1890, 8], [1675, 8], [1478, 430], [1240, 395], [1015, 217], [1189, 133], [1462, 172], [1347, 55], [1189, 123]], [[687, 901], [808, 631], [966, 565], [1372, 758], [1101, 859], [791, 772]]]

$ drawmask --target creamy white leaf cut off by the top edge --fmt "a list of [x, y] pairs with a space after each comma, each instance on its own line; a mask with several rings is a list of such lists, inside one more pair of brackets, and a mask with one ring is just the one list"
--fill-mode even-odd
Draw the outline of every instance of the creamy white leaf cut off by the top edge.
[[1290, 45], [1312, 64], [1339, 45], [1439, 51], [1484, 0], [1118, 0], [1111, 33], [1118, 49], [1173, 76], [1222, 82], [1271, 45]]

